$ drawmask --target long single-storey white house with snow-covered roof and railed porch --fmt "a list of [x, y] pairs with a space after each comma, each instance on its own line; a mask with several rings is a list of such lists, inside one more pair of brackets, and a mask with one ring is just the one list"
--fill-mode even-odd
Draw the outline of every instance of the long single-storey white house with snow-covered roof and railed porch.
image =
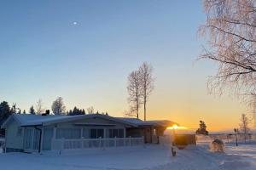
[[171, 121], [141, 121], [102, 114], [52, 116], [14, 114], [3, 122], [5, 150], [42, 152], [158, 143]]

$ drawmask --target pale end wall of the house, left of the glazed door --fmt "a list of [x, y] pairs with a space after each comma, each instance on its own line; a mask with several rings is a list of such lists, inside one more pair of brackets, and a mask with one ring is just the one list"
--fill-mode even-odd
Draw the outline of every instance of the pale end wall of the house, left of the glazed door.
[[[19, 128], [21, 133], [18, 133]], [[6, 151], [22, 151], [23, 150], [24, 127], [20, 127], [18, 122], [12, 120], [6, 128], [5, 140]]]

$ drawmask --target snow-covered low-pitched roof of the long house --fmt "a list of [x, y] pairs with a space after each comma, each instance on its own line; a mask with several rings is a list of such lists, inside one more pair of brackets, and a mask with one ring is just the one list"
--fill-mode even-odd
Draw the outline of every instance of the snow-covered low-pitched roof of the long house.
[[7, 124], [12, 120], [15, 119], [16, 122], [20, 123], [20, 126], [45, 126], [50, 125], [58, 122], [69, 122], [69, 121], [76, 121], [80, 119], [86, 119], [86, 118], [94, 118], [94, 117], [100, 117], [102, 119], [107, 119], [113, 122], [120, 122], [124, 123], [126, 125], [129, 125], [131, 127], [138, 127], [138, 126], [163, 126], [163, 127], [169, 127], [173, 124], [177, 124], [175, 122], [171, 121], [142, 121], [137, 118], [126, 118], [126, 117], [113, 117], [113, 116], [107, 116], [102, 114], [88, 114], [88, 115], [78, 115], [78, 116], [55, 116], [55, 115], [49, 115], [49, 116], [41, 116], [41, 115], [31, 115], [31, 114], [13, 114], [12, 116], [9, 116], [9, 118], [3, 122], [2, 128], [5, 128]]

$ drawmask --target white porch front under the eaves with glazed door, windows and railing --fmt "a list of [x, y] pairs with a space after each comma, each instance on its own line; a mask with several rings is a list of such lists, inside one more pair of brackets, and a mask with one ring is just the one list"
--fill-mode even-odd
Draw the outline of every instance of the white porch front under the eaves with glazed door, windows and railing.
[[126, 137], [120, 127], [26, 127], [25, 152], [82, 150], [144, 144], [144, 137]]

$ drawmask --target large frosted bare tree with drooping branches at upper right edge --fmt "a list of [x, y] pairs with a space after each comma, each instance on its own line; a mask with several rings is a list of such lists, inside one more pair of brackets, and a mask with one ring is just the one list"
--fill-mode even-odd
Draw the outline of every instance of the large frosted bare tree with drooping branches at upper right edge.
[[209, 85], [215, 92], [232, 88], [237, 94], [256, 94], [256, 7], [253, 0], [204, 0], [206, 23], [199, 28], [210, 50], [201, 58], [218, 64]]

